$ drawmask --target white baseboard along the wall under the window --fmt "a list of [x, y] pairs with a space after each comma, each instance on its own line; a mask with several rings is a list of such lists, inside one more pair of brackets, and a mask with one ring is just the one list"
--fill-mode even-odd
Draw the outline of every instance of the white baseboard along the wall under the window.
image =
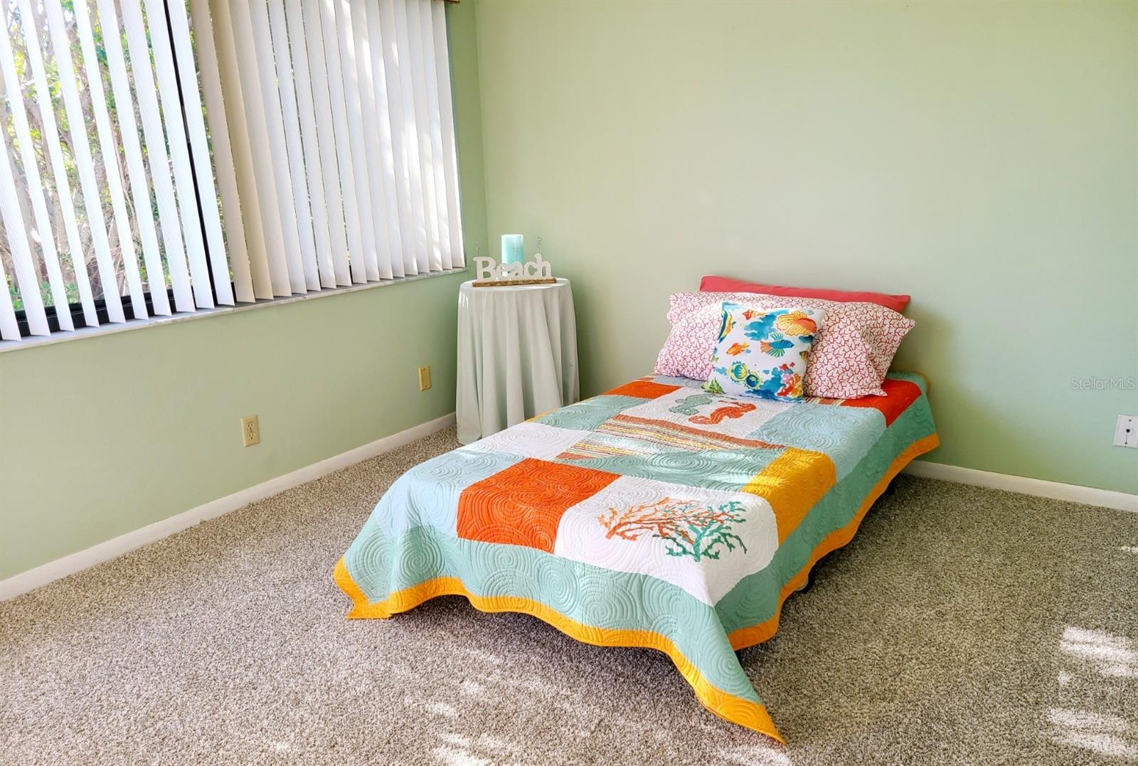
[[191, 508], [190, 510], [172, 516], [168, 519], [156, 521], [151, 525], [142, 527], [141, 529], [129, 532], [125, 535], [119, 535], [118, 537], [108, 540], [105, 543], [92, 545], [91, 547], [79, 551], [77, 553], [65, 555], [61, 559], [56, 559], [55, 561], [49, 561], [46, 565], [35, 567], [34, 569], [28, 569], [27, 571], [14, 575], [8, 579], [0, 580], [0, 601], [14, 599], [17, 595], [27, 593], [28, 591], [38, 588], [41, 585], [47, 585], [52, 580], [59, 579], [60, 577], [74, 575], [76, 571], [82, 571], [97, 563], [109, 561], [110, 559], [117, 558], [123, 553], [129, 553], [137, 547], [149, 545], [150, 543], [157, 542], [163, 537], [168, 537], [174, 533], [188, 529], [189, 527], [200, 524], [206, 519], [213, 519], [222, 516], [223, 513], [229, 513], [230, 511], [244, 508], [249, 503], [264, 500], [265, 497], [279, 494], [306, 481], [318, 479], [325, 473], [331, 473], [332, 471], [358, 463], [362, 460], [368, 460], [369, 458], [374, 458], [376, 455], [385, 452], [390, 452], [391, 450], [402, 447], [404, 444], [410, 444], [415, 439], [421, 439], [422, 437], [434, 434], [435, 431], [443, 430], [453, 423], [454, 413], [452, 412], [451, 414], [414, 426], [399, 431], [398, 434], [385, 436], [381, 439], [377, 439], [370, 444], [364, 444], [355, 450], [348, 450], [347, 452], [340, 453], [333, 458], [321, 460], [319, 463], [298, 468], [295, 471], [290, 471], [283, 476], [278, 476], [274, 479], [269, 479], [267, 481], [263, 481], [256, 486], [249, 487], [248, 489], [241, 489], [240, 492], [234, 492], [232, 495], [226, 495], [225, 497], [220, 497], [204, 505]]

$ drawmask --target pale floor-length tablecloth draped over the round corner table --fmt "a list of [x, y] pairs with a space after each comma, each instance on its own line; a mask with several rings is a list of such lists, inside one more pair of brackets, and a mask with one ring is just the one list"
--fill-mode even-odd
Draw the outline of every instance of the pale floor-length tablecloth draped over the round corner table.
[[569, 280], [459, 288], [459, 442], [572, 404], [577, 322]]

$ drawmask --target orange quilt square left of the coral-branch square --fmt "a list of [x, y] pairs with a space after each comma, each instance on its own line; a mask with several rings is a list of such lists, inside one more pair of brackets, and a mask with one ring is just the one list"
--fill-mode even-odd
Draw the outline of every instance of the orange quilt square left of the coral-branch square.
[[459, 537], [553, 552], [558, 524], [616, 473], [527, 458], [459, 495]]

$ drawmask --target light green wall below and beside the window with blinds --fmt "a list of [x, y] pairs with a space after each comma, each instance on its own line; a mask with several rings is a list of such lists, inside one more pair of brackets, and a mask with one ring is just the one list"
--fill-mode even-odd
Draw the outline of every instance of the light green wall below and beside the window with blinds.
[[[473, 8], [447, 17], [473, 252], [486, 241]], [[0, 579], [453, 412], [464, 278], [0, 354]], [[253, 413], [262, 443], [245, 448]]]

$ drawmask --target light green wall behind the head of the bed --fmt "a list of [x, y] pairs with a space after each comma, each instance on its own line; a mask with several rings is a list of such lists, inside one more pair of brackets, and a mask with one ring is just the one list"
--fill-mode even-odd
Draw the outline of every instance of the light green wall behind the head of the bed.
[[1138, 3], [478, 2], [489, 231], [574, 281], [583, 388], [704, 273], [909, 293], [933, 461], [1138, 492]]

